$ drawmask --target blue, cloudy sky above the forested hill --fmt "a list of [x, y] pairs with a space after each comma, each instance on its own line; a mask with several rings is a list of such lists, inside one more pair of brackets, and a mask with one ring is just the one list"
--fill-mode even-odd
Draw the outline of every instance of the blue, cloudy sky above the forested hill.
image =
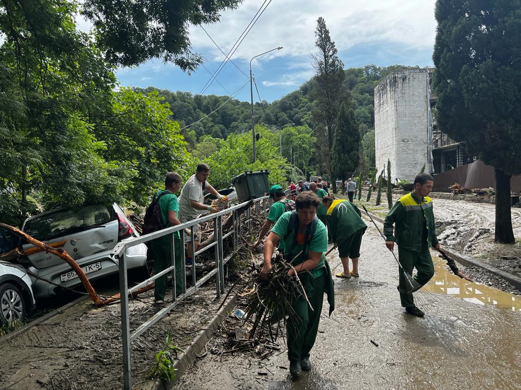
[[[263, 0], [244, 0], [238, 9], [222, 12], [218, 23], [204, 28], [228, 53], [262, 4]], [[435, 0], [272, 0], [232, 57], [244, 74], [228, 62], [204, 94], [231, 94], [250, 101], [250, 59], [278, 46], [283, 48], [252, 62], [258, 87], [258, 95], [253, 88], [254, 101], [260, 96], [271, 102], [298, 89], [314, 73], [311, 55], [317, 51], [315, 29], [320, 16], [345, 69], [371, 63], [432, 66], [434, 7]], [[205, 59], [204, 66], [191, 75], [155, 59], [118, 69], [118, 81], [124, 86], [201, 93], [224, 55], [201, 27], [190, 28], [190, 40], [192, 50]]]

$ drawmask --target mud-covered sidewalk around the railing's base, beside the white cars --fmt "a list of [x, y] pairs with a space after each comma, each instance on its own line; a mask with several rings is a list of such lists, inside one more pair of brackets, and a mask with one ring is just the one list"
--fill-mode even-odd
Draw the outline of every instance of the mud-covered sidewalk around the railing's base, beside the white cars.
[[[155, 354], [162, 349], [167, 330], [180, 348], [187, 347], [215, 316], [219, 302], [212, 282], [192, 295], [132, 343], [132, 382], [149, 380]], [[170, 298], [171, 299], [171, 298]], [[130, 329], [135, 330], [165, 304], [154, 304], [154, 292], [129, 303]], [[121, 320], [119, 303], [96, 308], [83, 301], [64, 313], [2, 343], [0, 388], [26, 390], [122, 387]]]

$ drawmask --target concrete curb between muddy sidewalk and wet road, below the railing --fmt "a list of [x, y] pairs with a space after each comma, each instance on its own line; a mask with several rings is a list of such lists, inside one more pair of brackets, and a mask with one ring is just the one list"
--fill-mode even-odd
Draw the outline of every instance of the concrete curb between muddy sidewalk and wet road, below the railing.
[[217, 327], [226, 318], [229, 311], [237, 304], [237, 297], [235, 295], [230, 296], [228, 302], [218, 311], [212, 321], [208, 324], [206, 330], [199, 332], [199, 335], [195, 337], [192, 344], [184, 350], [184, 354], [179, 357], [173, 367], [176, 369], [176, 379], [171, 383], [164, 383], [162, 380], [155, 380], [153, 383], [145, 384], [142, 386], [143, 389], [150, 390], [169, 390], [173, 388], [176, 382], [181, 378], [183, 373], [192, 365], [195, 361], [196, 356], [203, 350], [206, 343], [212, 339]]

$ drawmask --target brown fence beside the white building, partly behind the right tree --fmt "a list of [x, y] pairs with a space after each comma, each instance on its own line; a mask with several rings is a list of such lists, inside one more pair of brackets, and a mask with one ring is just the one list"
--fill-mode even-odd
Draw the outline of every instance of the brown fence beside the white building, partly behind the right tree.
[[[433, 191], [451, 192], [449, 187], [458, 183], [464, 188], [495, 188], [494, 168], [485, 165], [481, 160], [476, 160], [472, 164], [458, 166], [450, 171], [434, 175]], [[521, 176], [512, 176], [510, 180], [510, 190], [516, 194], [521, 192]]]

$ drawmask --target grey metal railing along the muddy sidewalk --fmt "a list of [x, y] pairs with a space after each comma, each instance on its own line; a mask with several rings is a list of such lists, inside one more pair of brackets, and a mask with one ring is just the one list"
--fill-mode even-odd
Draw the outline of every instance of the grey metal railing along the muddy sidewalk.
[[[253, 200], [253, 203], [246, 210], [246, 217], [241, 218], [241, 215], [238, 213], [240, 209], [246, 206], [249, 202], [247, 201], [235, 206], [230, 207], [229, 209], [222, 210], [215, 214], [210, 214], [201, 218], [194, 219], [193, 221], [172, 226], [163, 230], [156, 231], [154, 233], [150, 233], [148, 235], [144, 235], [141, 237], [131, 238], [125, 241], [122, 241], [116, 245], [112, 254], [114, 258], [118, 259], [119, 265], [119, 289], [120, 289], [120, 306], [121, 306], [121, 342], [123, 349], [123, 388], [125, 390], [130, 390], [132, 388], [132, 372], [131, 372], [131, 362], [130, 362], [130, 345], [133, 341], [138, 339], [138, 337], [143, 334], [148, 328], [153, 326], [154, 323], [165, 317], [169, 311], [174, 309], [180, 302], [182, 302], [185, 298], [192, 295], [197, 288], [201, 287], [203, 283], [208, 281], [210, 278], [215, 276], [215, 287], [216, 287], [216, 296], [217, 299], [220, 299], [221, 293], [224, 293], [224, 285], [225, 285], [225, 275], [224, 275], [224, 266], [228, 261], [233, 257], [235, 253], [237, 253], [239, 246], [239, 234], [241, 229], [243, 228], [243, 223], [247, 224], [247, 229], [251, 229], [252, 224], [252, 208], [254, 209], [254, 213], [258, 216], [263, 216], [266, 218], [266, 209], [268, 207], [268, 202], [271, 204], [270, 197], [262, 197]], [[262, 214], [261, 214], [262, 207]], [[229, 232], [224, 233], [222, 230], [222, 217], [226, 215], [230, 215], [232, 218], [232, 228]], [[244, 220], [243, 220], [244, 219]], [[201, 250], [195, 251], [195, 237], [194, 237], [194, 226], [197, 224], [201, 224], [203, 222], [207, 222], [209, 220], [213, 220], [214, 224], [214, 240], [212, 243], [204, 246]], [[187, 290], [186, 287], [186, 270], [184, 267], [185, 263], [185, 254], [184, 254], [184, 229], [187, 228], [190, 230], [190, 240], [192, 242], [192, 283], [191, 287]], [[176, 296], [176, 255], [174, 248], [174, 233], [179, 231], [181, 236], [181, 244], [183, 248], [181, 249], [181, 264], [182, 264], [182, 294]], [[201, 233], [200, 233], [201, 234]], [[145, 281], [135, 285], [132, 288], [128, 288], [128, 279], [127, 279], [127, 262], [125, 258], [125, 252], [128, 248], [134, 245], [138, 245], [141, 243], [145, 243], [148, 241], [152, 241], [158, 239], [160, 237], [170, 236], [171, 240], [171, 263], [170, 267], [165, 270], [159, 272], [158, 274], [146, 279]], [[224, 254], [224, 240], [228, 237], [232, 237], [232, 249], [231, 253], [227, 253], [227, 256]], [[203, 252], [215, 247], [215, 268], [209, 271], [205, 276], [203, 276], [200, 280], [197, 280], [196, 277], [196, 267], [195, 267], [195, 258], [198, 255], [201, 255]], [[143, 322], [137, 329], [135, 329], [132, 333], [130, 330], [130, 322], [129, 322], [129, 299], [128, 296], [138, 289], [145, 287], [150, 284], [152, 281], [157, 278], [170, 273], [172, 277], [172, 302], [159, 310], [155, 315], [148, 318], [145, 322]]]

